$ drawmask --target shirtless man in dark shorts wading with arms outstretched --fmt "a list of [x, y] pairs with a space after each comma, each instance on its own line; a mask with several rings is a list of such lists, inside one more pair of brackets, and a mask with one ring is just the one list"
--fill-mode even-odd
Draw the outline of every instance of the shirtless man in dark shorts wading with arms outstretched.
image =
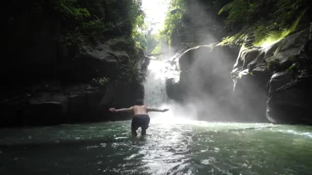
[[116, 110], [115, 108], [110, 108], [110, 112], [118, 113], [118, 112], [132, 112], [133, 117], [131, 121], [131, 134], [132, 136], [136, 136], [136, 130], [141, 127], [142, 132], [141, 135], [146, 135], [146, 129], [148, 128], [148, 124], [150, 121], [150, 118], [148, 116], [148, 112], [166, 112], [168, 109], [160, 110], [157, 108], [151, 108], [145, 105], [135, 105], [129, 108], [121, 108], [119, 110]]

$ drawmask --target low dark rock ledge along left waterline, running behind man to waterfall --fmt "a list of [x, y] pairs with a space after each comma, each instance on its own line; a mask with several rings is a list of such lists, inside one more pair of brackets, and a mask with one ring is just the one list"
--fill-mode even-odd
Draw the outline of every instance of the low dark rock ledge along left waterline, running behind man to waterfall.
[[54, 125], [60, 123], [98, 122], [130, 119], [115, 118], [109, 107], [127, 107], [144, 100], [140, 81], [116, 81], [105, 89], [79, 84], [44, 85], [5, 99], [0, 103], [0, 126]]

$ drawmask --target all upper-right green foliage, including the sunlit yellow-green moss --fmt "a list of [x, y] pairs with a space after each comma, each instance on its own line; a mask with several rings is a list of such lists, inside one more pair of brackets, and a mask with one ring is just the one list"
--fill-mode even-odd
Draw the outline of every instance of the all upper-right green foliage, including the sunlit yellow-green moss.
[[294, 32], [309, 7], [308, 0], [233, 0], [218, 14], [227, 13], [225, 24], [229, 28], [235, 24], [244, 27], [236, 35], [224, 38], [222, 44], [241, 43], [243, 35], [255, 32], [255, 46], [269, 45]]

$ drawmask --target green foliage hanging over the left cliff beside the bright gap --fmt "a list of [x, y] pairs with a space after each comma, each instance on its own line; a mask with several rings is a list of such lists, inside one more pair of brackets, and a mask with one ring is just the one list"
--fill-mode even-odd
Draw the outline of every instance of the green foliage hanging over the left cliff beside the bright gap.
[[[116, 6], [116, 4], [118, 5]], [[105, 5], [116, 6], [116, 8], [105, 9], [107, 8]], [[121, 30], [127, 26], [126, 29], [131, 29], [131, 33], [123, 33], [122, 37], [119, 36], [120, 42], [116, 47], [126, 50], [130, 60], [120, 60], [121, 73], [119, 76], [120, 79], [126, 81], [138, 79], [139, 67], [136, 62], [139, 59], [141, 49], [146, 46], [145, 35], [142, 32], [145, 29], [145, 14], [141, 5], [142, 0], [125, 1], [124, 4], [115, 2], [115, 0], [92, 0], [88, 3], [77, 2], [76, 0], [57, 1], [55, 9], [61, 16], [64, 16], [63, 20], [66, 23], [71, 24], [61, 39], [66, 45], [74, 45], [87, 38], [100, 38], [105, 31], [122, 32]], [[81, 8], [80, 6], [88, 8]], [[105, 14], [108, 10], [109, 14]], [[121, 13], [121, 11], [126, 12], [126, 14]], [[131, 28], [128, 28], [128, 25], [131, 25]], [[105, 86], [108, 82], [109, 78], [103, 77], [93, 78], [91, 83], [96, 86]]]

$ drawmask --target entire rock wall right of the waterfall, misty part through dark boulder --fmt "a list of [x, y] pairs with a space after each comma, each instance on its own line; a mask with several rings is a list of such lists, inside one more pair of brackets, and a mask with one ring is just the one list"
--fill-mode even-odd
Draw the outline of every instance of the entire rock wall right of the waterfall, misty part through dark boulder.
[[306, 29], [267, 47], [244, 43], [239, 53], [222, 46], [191, 48], [170, 60], [180, 79], [166, 80], [168, 97], [191, 103], [205, 120], [311, 124], [307, 39]]

